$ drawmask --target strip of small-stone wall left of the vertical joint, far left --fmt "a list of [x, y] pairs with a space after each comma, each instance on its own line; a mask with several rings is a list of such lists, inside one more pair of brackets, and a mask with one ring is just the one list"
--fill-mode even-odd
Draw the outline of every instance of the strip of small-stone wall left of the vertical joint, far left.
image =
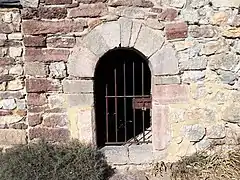
[[19, 9], [0, 9], [0, 148], [26, 143], [23, 42]]

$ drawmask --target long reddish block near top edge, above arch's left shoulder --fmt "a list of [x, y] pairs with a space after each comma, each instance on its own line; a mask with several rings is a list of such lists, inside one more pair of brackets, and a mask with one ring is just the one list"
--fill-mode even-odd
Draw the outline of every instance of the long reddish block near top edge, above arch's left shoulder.
[[69, 17], [99, 17], [108, 12], [106, 4], [83, 4], [69, 11]]

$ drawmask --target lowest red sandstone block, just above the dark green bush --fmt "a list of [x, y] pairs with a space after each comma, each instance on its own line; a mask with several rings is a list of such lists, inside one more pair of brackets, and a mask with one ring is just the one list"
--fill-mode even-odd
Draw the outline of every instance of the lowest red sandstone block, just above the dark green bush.
[[49, 141], [69, 140], [69, 131], [64, 128], [31, 128], [29, 129], [29, 139], [43, 138]]

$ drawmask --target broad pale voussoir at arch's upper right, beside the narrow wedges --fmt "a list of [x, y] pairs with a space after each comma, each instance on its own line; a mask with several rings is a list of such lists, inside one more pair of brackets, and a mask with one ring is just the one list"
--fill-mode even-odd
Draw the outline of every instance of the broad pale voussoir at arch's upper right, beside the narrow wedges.
[[142, 52], [146, 57], [149, 57], [157, 52], [163, 43], [164, 37], [161, 31], [142, 26], [134, 48]]

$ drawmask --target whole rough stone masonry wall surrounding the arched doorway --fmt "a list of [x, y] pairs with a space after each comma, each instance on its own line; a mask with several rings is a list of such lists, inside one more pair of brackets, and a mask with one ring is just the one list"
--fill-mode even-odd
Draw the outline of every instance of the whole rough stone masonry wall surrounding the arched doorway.
[[0, 9], [1, 147], [94, 144], [95, 65], [119, 44], [144, 54], [152, 71], [151, 153], [174, 161], [240, 143], [240, 0], [21, 5]]

